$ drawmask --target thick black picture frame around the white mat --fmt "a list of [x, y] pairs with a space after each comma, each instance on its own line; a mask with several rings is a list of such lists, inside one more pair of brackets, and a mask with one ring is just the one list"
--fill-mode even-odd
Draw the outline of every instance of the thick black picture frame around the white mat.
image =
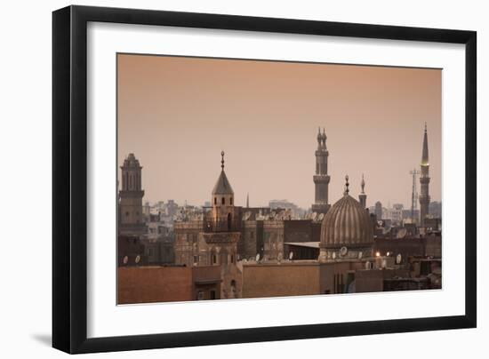
[[[89, 21], [465, 44], [465, 315], [87, 338]], [[52, 347], [92, 353], [312, 339], [477, 325], [477, 33], [313, 20], [68, 6], [52, 13]]]

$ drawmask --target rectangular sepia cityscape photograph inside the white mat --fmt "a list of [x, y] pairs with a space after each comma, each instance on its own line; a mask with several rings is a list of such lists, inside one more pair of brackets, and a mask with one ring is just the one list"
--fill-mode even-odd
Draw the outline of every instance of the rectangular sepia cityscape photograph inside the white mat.
[[117, 304], [442, 288], [440, 68], [116, 62]]

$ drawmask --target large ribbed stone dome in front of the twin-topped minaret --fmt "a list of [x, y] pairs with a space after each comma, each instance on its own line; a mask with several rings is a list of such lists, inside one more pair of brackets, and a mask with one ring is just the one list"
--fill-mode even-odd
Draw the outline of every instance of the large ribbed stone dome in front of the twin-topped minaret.
[[346, 194], [327, 211], [321, 225], [321, 247], [362, 247], [373, 243], [373, 227], [367, 211]]

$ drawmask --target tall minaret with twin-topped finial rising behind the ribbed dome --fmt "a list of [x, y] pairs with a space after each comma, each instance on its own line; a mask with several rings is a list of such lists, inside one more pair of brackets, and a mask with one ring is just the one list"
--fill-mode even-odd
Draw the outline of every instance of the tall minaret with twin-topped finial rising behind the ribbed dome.
[[328, 175], [328, 156], [326, 148], [326, 133], [319, 128], [317, 132], [317, 150], [316, 150], [316, 174], [313, 176], [315, 185], [315, 202], [312, 205], [312, 211], [325, 213], [329, 210], [328, 203], [328, 186], [330, 176]]

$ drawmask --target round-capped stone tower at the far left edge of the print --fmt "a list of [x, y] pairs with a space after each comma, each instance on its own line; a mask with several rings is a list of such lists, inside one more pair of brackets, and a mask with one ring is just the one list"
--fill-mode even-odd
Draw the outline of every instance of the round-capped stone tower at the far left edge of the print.
[[119, 190], [119, 235], [144, 235], [140, 162], [129, 154], [121, 166], [122, 187]]

